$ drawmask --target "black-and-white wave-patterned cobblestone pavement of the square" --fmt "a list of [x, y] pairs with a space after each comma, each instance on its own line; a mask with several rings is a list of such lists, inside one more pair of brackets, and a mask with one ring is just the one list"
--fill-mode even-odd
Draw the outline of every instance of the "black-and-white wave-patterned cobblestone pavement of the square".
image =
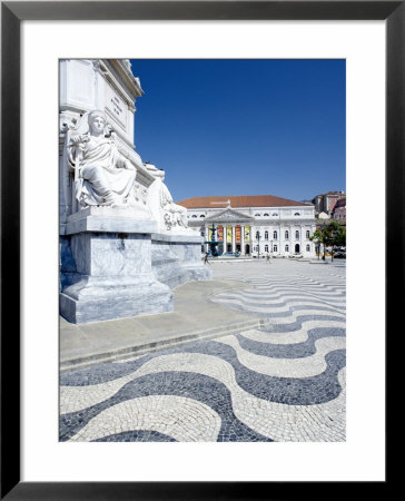
[[61, 374], [61, 441], [345, 440], [345, 268], [213, 268], [246, 288], [211, 301], [264, 327]]

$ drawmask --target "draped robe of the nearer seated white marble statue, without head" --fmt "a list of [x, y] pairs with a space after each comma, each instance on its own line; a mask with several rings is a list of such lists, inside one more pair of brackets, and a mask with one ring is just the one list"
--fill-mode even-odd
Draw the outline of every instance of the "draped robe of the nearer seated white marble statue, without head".
[[126, 158], [111, 138], [90, 136], [83, 143], [76, 198], [81, 205], [109, 205], [111, 199], [134, 199], [136, 170], [126, 169]]

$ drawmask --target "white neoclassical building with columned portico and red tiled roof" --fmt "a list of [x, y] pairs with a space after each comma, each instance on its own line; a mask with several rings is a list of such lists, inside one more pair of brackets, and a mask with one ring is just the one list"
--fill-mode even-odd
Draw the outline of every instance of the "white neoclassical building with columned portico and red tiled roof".
[[205, 237], [201, 252], [209, 248], [214, 226], [219, 253], [315, 256], [312, 204], [273, 195], [195, 197], [178, 204], [187, 208], [188, 225]]

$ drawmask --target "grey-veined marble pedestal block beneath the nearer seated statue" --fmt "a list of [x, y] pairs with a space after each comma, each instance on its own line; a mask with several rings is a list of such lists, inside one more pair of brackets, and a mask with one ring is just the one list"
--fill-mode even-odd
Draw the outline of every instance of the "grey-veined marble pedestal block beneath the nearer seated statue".
[[172, 293], [151, 266], [156, 223], [130, 215], [92, 207], [68, 217], [60, 247], [60, 311], [69, 322], [172, 311]]

